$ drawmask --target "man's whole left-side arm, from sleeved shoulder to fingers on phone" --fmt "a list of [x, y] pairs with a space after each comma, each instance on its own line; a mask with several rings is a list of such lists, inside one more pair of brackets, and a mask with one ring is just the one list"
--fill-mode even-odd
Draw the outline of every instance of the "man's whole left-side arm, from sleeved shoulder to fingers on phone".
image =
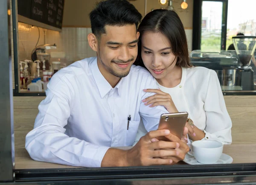
[[[32, 159], [64, 165], [111, 167], [137, 165], [168, 165], [178, 148], [175, 142], [156, 142], [151, 139], [170, 135], [169, 130], [156, 130], [144, 136], [130, 150], [119, 150], [94, 145], [65, 134], [65, 125], [73, 107], [74, 90], [64, 76], [55, 75], [48, 84], [47, 97], [39, 105], [34, 129], [26, 136], [26, 150]], [[167, 133], [166, 133], [167, 132]]]

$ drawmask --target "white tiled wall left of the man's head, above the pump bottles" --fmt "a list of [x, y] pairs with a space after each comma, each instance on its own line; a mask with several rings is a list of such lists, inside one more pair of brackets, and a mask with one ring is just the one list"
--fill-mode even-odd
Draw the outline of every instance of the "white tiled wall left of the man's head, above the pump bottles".
[[[44, 44], [44, 30], [40, 30], [38, 45]], [[50, 49], [47, 52], [65, 52], [67, 65], [83, 58], [96, 56], [88, 45], [87, 35], [91, 32], [90, 28], [62, 28], [61, 32], [52, 30], [46, 31], [46, 43], [56, 44], [57, 49]], [[31, 52], [35, 48], [38, 40], [38, 29], [31, 29], [31, 32], [19, 31], [19, 53], [20, 60], [31, 59]]]

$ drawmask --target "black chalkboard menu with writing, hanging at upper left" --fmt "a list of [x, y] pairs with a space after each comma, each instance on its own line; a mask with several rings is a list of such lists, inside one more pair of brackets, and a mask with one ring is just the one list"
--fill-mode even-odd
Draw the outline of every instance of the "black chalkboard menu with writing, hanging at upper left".
[[61, 29], [64, 0], [17, 0], [17, 3], [19, 15]]

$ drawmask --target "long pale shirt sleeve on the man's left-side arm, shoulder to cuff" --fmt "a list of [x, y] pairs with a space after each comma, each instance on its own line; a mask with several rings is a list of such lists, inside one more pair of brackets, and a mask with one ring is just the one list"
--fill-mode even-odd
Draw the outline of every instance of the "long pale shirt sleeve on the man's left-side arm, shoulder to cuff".
[[26, 136], [32, 159], [63, 165], [100, 167], [109, 147], [94, 145], [65, 134], [64, 126], [73, 107], [74, 90], [64, 75], [56, 74], [48, 84], [47, 97], [38, 107], [35, 126]]

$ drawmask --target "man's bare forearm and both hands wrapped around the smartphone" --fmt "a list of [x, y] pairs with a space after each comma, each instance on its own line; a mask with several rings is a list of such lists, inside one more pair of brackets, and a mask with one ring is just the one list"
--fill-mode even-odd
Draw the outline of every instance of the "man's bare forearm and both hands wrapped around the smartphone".
[[[185, 127], [180, 140], [169, 130], [154, 130], [141, 137], [130, 150], [110, 148], [102, 159], [102, 167], [110, 166], [149, 166], [171, 165], [183, 160], [189, 151], [185, 136]], [[164, 136], [170, 141], [159, 141], [157, 137]]]

